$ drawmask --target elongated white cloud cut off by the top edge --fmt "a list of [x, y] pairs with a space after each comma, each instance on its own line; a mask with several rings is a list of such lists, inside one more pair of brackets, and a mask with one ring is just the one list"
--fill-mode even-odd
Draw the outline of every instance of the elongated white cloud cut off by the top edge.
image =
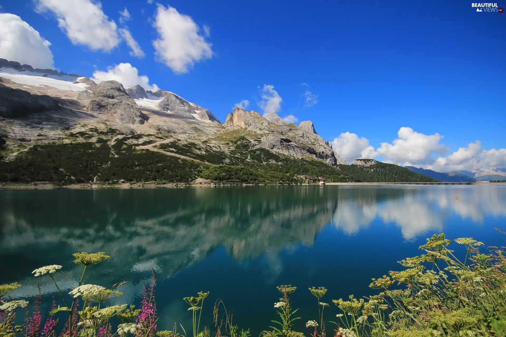
[[58, 26], [73, 44], [109, 52], [120, 41], [116, 23], [104, 14], [100, 2], [38, 0], [38, 10], [52, 11], [58, 18]]

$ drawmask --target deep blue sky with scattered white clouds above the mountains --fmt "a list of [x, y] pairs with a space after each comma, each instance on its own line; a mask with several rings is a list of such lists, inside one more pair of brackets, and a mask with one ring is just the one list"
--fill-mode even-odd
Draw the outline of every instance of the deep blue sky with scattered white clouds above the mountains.
[[[72, 40], [69, 30], [59, 27], [57, 17], [75, 24], [79, 20], [73, 15], [79, 17], [85, 12], [80, 6], [90, 2], [117, 26], [119, 37], [107, 47]], [[248, 110], [262, 112], [259, 102], [267, 84], [273, 88], [264, 95], [281, 99], [271, 106], [274, 111], [312, 120], [324, 139], [335, 139], [334, 148], [344, 157], [369, 155], [442, 171], [506, 167], [504, 13], [476, 12], [471, 2], [455, 0], [409, 5], [68, 0], [73, 6], [67, 9], [55, 3], [3, 2], [0, 12], [18, 15], [50, 41], [59, 70], [92, 76], [96, 70], [129, 63], [150, 84], [178, 93], [222, 121], [243, 100], [249, 101]], [[506, 7], [506, 2], [497, 6]], [[159, 17], [158, 27], [171, 37], [164, 42], [165, 52], [180, 60], [165, 62], [153, 41], [162, 35], [155, 27], [157, 14], [171, 7], [176, 22]], [[130, 18], [120, 20], [124, 8]], [[83, 21], [78, 24], [86, 26], [90, 20]], [[204, 46], [198, 41], [186, 41], [188, 45], [188, 34], [173, 36], [180, 32], [178, 25], [189, 22]], [[93, 29], [74, 28], [82, 34]], [[131, 55], [121, 29], [130, 31], [144, 57]], [[174, 41], [183, 43], [181, 50], [188, 47], [192, 56], [186, 58], [193, 65], [184, 63]], [[436, 133], [444, 138], [430, 138]], [[388, 145], [382, 147], [383, 142]], [[496, 152], [484, 152], [492, 150]]]

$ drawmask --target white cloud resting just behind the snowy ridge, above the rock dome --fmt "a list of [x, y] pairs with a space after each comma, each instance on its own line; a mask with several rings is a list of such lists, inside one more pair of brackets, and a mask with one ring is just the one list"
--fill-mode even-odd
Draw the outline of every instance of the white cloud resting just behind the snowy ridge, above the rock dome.
[[139, 76], [137, 68], [132, 67], [130, 63], [120, 63], [114, 67], [109, 67], [107, 71], [97, 70], [93, 73], [93, 77], [102, 81], [118, 81], [123, 84], [125, 88], [139, 84], [145, 90], [159, 90], [156, 84], [149, 84], [148, 76]]

